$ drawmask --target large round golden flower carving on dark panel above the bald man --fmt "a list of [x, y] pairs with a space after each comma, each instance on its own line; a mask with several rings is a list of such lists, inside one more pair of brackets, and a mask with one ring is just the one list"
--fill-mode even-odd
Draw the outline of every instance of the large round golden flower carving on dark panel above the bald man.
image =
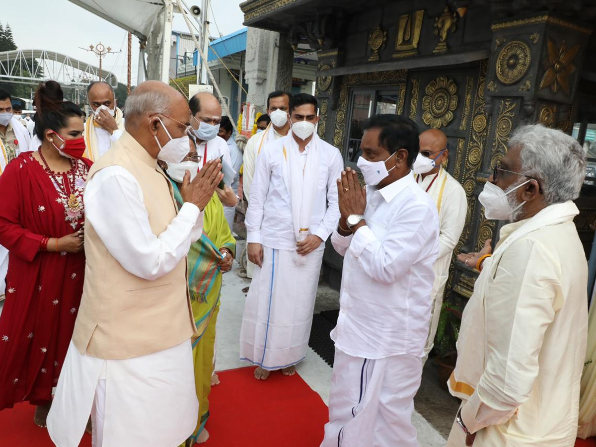
[[422, 120], [432, 128], [448, 125], [457, 110], [457, 85], [454, 80], [439, 76], [428, 83], [422, 98]]

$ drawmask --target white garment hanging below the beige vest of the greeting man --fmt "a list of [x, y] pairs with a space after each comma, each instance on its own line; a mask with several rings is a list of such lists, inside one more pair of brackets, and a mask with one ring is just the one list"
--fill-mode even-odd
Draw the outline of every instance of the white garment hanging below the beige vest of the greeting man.
[[71, 342], [48, 415], [55, 445], [78, 446], [89, 414], [97, 447], [184, 443], [198, 417], [190, 340], [125, 360], [81, 355]]

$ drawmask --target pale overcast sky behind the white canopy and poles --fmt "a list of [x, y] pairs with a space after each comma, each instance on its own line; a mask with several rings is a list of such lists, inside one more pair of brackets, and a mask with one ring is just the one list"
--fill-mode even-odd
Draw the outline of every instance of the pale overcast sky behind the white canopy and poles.
[[[122, 0], [138, 1], [138, 0]], [[103, 67], [116, 75], [119, 82], [126, 83], [127, 32], [114, 24], [89, 13], [68, 0], [28, 0], [27, 2], [2, 1], [0, 22], [10, 24], [15, 44], [19, 49], [46, 49], [67, 54], [87, 63], [99, 66], [98, 57], [82, 48], [89, 45], [110, 46], [119, 54], [106, 55]], [[200, 1], [196, 2], [201, 4]], [[209, 11], [209, 33], [219, 37], [243, 27], [244, 15], [241, 0], [212, 0]], [[48, 5], [51, 4], [51, 7]], [[193, 5], [193, 0], [187, 0]], [[175, 14], [173, 30], [188, 32], [184, 18]], [[132, 36], [132, 85], [136, 85], [138, 67], [138, 39]]]

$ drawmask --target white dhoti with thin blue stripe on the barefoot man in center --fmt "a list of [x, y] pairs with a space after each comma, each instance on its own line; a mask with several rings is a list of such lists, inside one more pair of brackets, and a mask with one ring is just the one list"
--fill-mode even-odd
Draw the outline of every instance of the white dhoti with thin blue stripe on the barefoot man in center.
[[303, 257], [263, 246], [263, 266], [254, 270], [244, 304], [242, 360], [279, 370], [305, 358], [322, 258], [322, 247]]

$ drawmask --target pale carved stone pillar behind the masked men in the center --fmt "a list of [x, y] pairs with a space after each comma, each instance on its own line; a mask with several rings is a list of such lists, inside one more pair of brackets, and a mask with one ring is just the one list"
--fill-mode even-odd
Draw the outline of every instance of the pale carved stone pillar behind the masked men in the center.
[[287, 36], [257, 28], [250, 28], [246, 42], [247, 102], [255, 111], [264, 112], [267, 96], [275, 90], [290, 91], [294, 51]]

